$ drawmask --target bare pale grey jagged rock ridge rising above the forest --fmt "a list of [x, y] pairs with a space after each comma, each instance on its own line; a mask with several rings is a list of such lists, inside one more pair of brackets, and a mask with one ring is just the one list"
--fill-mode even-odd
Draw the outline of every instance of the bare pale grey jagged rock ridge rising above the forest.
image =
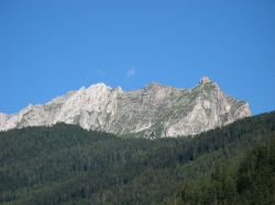
[[193, 89], [151, 83], [124, 92], [92, 84], [29, 105], [16, 114], [0, 114], [0, 130], [25, 126], [78, 124], [86, 129], [154, 138], [195, 135], [250, 116], [248, 104], [227, 96], [204, 77]]

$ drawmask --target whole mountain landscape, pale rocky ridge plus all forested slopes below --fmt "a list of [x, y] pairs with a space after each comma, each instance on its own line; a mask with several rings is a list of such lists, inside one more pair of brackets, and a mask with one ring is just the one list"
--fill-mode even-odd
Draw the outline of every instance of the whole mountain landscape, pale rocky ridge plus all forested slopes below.
[[250, 115], [207, 77], [1, 114], [0, 205], [275, 204], [275, 112]]

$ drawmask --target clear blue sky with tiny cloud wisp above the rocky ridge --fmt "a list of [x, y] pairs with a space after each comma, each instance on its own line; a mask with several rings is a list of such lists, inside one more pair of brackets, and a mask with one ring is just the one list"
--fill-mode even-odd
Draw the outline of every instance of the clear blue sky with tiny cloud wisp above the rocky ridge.
[[0, 112], [202, 75], [253, 114], [275, 110], [274, 0], [0, 0]]

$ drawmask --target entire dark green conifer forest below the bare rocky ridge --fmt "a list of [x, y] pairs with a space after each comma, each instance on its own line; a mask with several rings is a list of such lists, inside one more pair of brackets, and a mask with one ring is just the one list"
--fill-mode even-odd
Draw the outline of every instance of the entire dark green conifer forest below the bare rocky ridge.
[[275, 112], [198, 136], [0, 133], [1, 205], [275, 204]]

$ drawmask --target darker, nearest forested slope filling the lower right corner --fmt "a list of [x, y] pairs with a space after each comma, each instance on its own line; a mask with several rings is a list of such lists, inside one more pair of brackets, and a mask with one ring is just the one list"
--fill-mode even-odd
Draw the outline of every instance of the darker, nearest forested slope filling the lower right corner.
[[165, 204], [275, 204], [275, 134], [244, 157], [217, 166], [208, 176], [183, 181]]

